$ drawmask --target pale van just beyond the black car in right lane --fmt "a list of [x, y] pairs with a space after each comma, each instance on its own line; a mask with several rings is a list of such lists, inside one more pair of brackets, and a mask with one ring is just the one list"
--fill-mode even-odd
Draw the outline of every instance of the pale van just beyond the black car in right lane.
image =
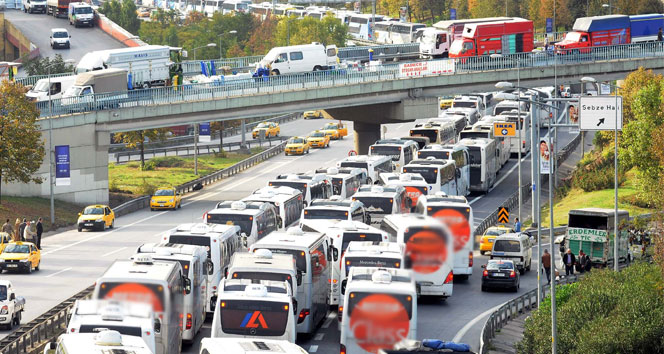
[[533, 263], [533, 248], [525, 233], [502, 234], [493, 241], [490, 259], [514, 261], [519, 273], [525, 274]]

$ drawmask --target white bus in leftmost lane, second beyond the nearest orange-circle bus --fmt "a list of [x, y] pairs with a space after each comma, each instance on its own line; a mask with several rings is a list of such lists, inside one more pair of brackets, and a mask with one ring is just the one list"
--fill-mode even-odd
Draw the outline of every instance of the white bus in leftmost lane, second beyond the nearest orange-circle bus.
[[215, 292], [224, 277], [224, 269], [231, 256], [242, 249], [240, 227], [237, 225], [182, 224], [163, 236], [162, 242], [169, 245], [195, 245], [207, 250], [205, 311], [214, 313]]

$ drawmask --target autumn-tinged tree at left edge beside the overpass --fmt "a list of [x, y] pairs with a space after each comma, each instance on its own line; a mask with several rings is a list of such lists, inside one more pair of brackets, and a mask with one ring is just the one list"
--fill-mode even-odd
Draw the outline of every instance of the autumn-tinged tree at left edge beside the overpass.
[[42, 183], [34, 176], [44, 160], [44, 141], [36, 124], [39, 110], [25, 91], [8, 80], [0, 84], [0, 186], [3, 181]]

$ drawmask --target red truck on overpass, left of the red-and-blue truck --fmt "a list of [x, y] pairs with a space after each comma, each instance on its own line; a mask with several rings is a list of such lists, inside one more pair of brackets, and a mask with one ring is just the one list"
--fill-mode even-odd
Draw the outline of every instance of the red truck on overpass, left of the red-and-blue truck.
[[449, 57], [530, 52], [534, 48], [533, 32], [533, 21], [522, 18], [469, 23], [463, 29], [462, 38], [452, 42]]

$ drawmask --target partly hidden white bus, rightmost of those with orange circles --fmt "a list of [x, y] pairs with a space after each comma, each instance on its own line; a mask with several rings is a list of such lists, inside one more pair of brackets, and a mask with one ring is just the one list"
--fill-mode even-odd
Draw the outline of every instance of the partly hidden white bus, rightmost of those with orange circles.
[[415, 211], [441, 220], [454, 237], [454, 278], [468, 279], [473, 274], [473, 208], [466, 197], [429, 195], [420, 198]]

